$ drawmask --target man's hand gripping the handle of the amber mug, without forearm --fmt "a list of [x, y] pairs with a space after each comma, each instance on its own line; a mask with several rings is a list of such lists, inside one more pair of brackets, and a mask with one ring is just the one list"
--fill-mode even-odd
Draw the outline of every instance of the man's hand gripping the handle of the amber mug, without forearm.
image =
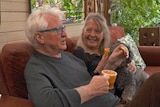
[[94, 96], [100, 96], [108, 92], [109, 90], [109, 76], [93, 76], [92, 80], [88, 84], [88, 89]]

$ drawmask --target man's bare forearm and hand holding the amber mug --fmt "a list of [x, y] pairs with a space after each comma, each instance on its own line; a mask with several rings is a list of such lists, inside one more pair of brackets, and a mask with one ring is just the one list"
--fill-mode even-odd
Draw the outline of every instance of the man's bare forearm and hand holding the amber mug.
[[93, 76], [88, 85], [75, 88], [80, 97], [81, 104], [103, 94], [106, 94], [109, 90], [109, 76]]

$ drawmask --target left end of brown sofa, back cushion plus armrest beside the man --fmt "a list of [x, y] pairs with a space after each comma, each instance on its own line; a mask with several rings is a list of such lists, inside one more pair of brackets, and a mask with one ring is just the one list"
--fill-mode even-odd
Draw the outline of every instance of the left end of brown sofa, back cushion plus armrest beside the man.
[[28, 100], [24, 67], [34, 48], [29, 42], [6, 44], [0, 53], [0, 107], [34, 107]]

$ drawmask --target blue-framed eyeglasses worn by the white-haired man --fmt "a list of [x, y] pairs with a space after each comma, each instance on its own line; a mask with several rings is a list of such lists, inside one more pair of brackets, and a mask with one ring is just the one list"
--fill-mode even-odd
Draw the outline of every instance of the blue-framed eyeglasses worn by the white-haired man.
[[62, 35], [63, 31], [65, 30], [65, 27], [64, 25], [62, 26], [59, 26], [59, 27], [55, 27], [55, 28], [51, 28], [51, 29], [46, 29], [46, 30], [39, 30], [38, 32], [51, 32], [51, 31], [56, 31], [58, 35]]

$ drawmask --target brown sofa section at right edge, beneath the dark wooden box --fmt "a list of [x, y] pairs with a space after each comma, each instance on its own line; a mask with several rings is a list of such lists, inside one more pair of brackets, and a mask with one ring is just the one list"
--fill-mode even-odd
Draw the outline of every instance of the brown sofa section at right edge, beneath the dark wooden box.
[[147, 66], [160, 66], [160, 46], [138, 46]]

